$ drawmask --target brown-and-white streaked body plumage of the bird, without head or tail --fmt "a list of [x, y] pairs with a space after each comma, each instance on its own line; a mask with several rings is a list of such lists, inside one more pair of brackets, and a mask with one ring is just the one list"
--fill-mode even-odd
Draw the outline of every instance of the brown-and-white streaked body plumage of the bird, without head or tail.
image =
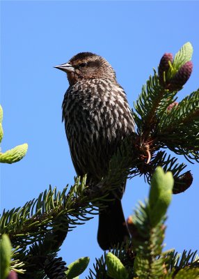
[[63, 119], [77, 174], [100, 181], [114, 151], [133, 130], [125, 92], [111, 80], [79, 81], [65, 93]]

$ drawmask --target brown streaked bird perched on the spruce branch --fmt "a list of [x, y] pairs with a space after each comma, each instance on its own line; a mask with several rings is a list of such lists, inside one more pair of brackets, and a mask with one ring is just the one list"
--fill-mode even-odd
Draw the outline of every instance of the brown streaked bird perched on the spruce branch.
[[[62, 116], [74, 169], [78, 176], [87, 174], [88, 185], [97, 184], [123, 140], [134, 133], [126, 93], [111, 64], [93, 52], [80, 52], [55, 68], [65, 72], [69, 82]], [[121, 204], [125, 183], [109, 193], [113, 200], [99, 213], [97, 241], [102, 250], [129, 238]]]

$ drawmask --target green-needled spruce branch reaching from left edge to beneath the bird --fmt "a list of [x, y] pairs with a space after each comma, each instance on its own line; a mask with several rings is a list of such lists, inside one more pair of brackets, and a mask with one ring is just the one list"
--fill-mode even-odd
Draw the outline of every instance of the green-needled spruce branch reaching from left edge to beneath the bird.
[[86, 177], [81, 181], [77, 178], [68, 193], [68, 186], [62, 192], [49, 186], [49, 190], [26, 202], [22, 208], [3, 211], [1, 232], [13, 232], [13, 238], [26, 236], [24, 242], [30, 244], [38, 237], [38, 229], [45, 234], [53, 228], [68, 230], [90, 220], [91, 217], [86, 217], [86, 214], [95, 214], [97, 208], [91, 203], [92, 199], [88, 200], [86, 189]]

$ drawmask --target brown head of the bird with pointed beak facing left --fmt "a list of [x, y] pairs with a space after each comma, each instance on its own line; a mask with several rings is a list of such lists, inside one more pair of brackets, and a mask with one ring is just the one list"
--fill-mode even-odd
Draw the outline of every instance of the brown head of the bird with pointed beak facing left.
[[81, 52], [67, 63], [55, 66], [67, 73], [70, 85], [80, 80], [92, 80], [95, 78], [116, 80], [116, 73], [106, 59], [91, 52]]

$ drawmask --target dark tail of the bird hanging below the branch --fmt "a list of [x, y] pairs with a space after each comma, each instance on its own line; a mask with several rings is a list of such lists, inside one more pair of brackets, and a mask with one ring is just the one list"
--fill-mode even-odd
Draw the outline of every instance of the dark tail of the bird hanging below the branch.
[[114, 245], [129, 238], [129, 232], [122, 211], [120, 199], [110, 202], [109, 206], [100, 212], [97, 241], [103, 250], [109, 250]]

